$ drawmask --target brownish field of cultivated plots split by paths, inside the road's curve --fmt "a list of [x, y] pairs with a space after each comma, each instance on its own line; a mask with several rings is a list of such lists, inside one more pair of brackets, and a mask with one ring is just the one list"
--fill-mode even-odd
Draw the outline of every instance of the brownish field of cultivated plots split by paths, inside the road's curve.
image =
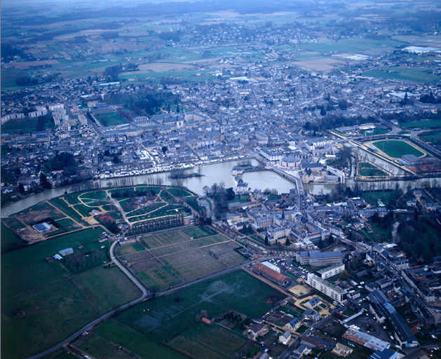
[[236, 242], [212, 233], [216, 231], [210, 227], [196, 226], [151, 234], [139, 244], [118, 248], [118, 256], [147, 287], [164, 290], [245, 262], [235, 251]]

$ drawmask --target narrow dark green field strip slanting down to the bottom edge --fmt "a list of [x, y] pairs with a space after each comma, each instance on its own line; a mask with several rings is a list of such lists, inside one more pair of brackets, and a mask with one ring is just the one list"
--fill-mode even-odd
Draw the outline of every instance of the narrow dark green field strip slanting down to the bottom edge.
[[[139, 309], [139, 306], [136, 306], [135, 309]], [[142, 356], [142, 358], [186, 358], [184, 355], [163, 346], [149, 337], [144, 337], [144, 335], [134, 332], [133, 330], [130, 330], [130, 328], [116, 323], [114, 320], [106, 320], [102, 325], [93, 330], [93, 332], [113, 343], [133, 351], [133, 353]]]

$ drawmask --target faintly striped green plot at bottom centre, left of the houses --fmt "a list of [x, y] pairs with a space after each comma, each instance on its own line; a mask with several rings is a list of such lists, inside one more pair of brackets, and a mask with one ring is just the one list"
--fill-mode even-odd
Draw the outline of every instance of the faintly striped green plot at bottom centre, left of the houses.
[[220, 325], [196, 324], [167, 343], [190, 358], [230, 358], [247, 343], [247, 339]]

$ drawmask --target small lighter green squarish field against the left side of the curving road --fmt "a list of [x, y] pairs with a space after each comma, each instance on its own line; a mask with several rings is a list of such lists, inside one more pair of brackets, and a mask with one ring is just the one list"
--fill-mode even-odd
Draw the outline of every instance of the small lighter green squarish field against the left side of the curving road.
[[99, 314], [107, 313], [141, 294], [138, 287], [115, 266], [108, 269], [101, 266], [76, 276], [73, 281]]

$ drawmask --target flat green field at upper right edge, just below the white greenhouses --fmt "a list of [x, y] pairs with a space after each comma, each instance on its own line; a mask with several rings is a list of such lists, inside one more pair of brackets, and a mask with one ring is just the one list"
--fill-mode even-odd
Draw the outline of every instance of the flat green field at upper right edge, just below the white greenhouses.
[[379, 77], [381, 79], [398, 79], [421, 83], [437, 83], [440, 76], [433, 74], [433, 69], [425, 67], [380, 67], [362, 73], [363, 76]]

